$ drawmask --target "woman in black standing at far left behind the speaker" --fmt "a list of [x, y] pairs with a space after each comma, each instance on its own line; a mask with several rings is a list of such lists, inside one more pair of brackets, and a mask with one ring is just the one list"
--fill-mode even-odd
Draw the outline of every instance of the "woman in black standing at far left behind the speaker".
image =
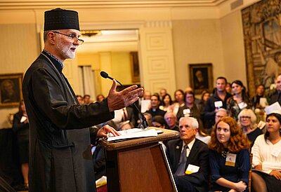
[[30, 123], [25, 110], [25, 103], [20, 101], [18, 113], [13, 116], [13, 132], [17, 137], [22, 177], [25, 182], [25, 189], [28, 189], [28, 163], [29, 163], [29, 142], [30, 142]]

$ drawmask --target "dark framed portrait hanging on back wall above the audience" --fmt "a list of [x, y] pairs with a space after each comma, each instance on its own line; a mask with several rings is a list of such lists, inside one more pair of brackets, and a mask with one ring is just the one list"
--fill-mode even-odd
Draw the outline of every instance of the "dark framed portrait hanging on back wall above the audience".
[[211, 63], [188, 64], [190, 71], [190, 86], [196, 95], [203, 90], [213, 89], [213, 68]]

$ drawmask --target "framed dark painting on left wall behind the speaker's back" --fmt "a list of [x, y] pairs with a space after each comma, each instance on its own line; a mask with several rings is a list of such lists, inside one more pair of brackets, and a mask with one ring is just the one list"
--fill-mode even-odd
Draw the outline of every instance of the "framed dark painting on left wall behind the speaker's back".
[[15, 107], [22, 100], [23, 74], [0, 74], [0, 107]]

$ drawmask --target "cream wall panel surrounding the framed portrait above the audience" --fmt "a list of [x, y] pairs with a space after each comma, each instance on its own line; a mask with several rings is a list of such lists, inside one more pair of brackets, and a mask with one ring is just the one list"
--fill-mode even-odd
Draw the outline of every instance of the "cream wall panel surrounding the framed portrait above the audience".
[[188, 64], [213, 64], [213, 76], [225, 75], [219, 20], [173, 21], [176, 87], [190, 86]]

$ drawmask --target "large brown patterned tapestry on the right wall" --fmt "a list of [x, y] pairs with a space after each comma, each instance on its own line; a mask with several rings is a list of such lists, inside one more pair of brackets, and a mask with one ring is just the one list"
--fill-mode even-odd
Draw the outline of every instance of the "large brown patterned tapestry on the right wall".
[[260, 83], [270, 90], [281, 74], [281, 0], [263, 0], [242, 10], [250, 95]]

